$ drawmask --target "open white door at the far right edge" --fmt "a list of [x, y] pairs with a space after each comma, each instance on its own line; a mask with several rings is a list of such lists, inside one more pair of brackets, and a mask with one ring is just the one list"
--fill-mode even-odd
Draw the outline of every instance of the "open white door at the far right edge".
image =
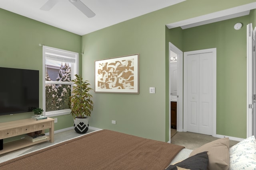
[[247, 25], [247, 137], [256, 136], [255, 62], [255, 32], [250, 23]]

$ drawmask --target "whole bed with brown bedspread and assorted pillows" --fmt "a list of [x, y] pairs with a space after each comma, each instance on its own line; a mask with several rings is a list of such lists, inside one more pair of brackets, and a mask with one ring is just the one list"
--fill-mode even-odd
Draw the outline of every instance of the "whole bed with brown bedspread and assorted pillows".
[[[0, 163], [0, 170], [240, 170], [256, 168], [256, 140], [229, 138], [198, 149], [99, 130]], [[182, 170], [185, 170], [182, 169]]]

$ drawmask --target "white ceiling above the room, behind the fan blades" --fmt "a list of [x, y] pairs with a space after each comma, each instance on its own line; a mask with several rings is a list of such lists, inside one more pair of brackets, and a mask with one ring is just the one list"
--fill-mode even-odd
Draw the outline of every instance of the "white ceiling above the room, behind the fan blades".
[[81, 0], [96, 16], [87, 18], [68, 0], [58, 0], [50, 10], [40, 8], [48, 0], [0, 0], [0, 8], [84, 35], [185, 0]]

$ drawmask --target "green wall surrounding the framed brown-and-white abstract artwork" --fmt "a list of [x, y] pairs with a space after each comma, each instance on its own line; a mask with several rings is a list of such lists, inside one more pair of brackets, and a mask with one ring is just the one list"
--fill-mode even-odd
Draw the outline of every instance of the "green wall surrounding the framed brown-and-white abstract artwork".
[[[254, 0], [246, 2], [240, 0], [187, 0], [82, 36], [82, 50], [85, 52], [82, 55], [82, 76], [90, 81], [93, 88], [94, 61], [140, 54], [140, 94], [93, 93], [95, 107], [90, 117], [90, 125], [168, 141], [169, 83], [166, 40], [174, 37], [176, 39], [174, 45], [182, 49], [184, 42], [179, 39], [180, 35], [183, 36], [184, 33], [177, 28], [175, 31], [178, 35], [172, 35], [168, 33], [165, 25], [250, 2], [254, 2]], [[200, 4], [200, 6], [194, 4]], [[232, 72], [232, 70], [228, 70], [228, 72]], [[244, 70], [239, 75], [243, 72]], [[149, 87], [156, 87], [156, 94], [149, 94]], [[222, 116], [218, 117], [218, 120], [220, 119]], [[111, 124], [111, 120], [116, 120], [116, 125]], [[232, 132], [228, 130], [226, 134], [232, 134]], [[243, 137], [244, 135], [238, 132], [232, 136]]]

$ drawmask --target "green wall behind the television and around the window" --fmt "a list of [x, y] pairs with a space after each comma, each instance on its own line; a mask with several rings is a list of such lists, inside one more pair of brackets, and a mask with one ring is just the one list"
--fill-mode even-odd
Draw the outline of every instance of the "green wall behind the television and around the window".
[[[42, 107], [42, 47], [39, 43], [81, 52], [82, 37], [3, 9], [0, 9], [0, 25], [0, 67], [39, 70], [39, 106]], [[32, 115], [32, 112], [2, 115], [0, 122], [26, 119]], [[72, 127], [72, 120], [71, 115], [58, 116], [54, 129]], [[5, 142], [18, 138], [6, 139]]]

